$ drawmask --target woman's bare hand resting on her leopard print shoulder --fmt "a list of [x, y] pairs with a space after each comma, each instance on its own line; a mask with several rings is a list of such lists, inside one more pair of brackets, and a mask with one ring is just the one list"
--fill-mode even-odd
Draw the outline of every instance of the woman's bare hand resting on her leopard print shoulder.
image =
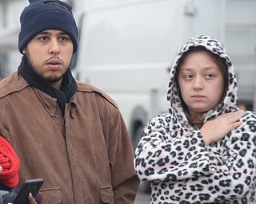
[[207, 121], [200, 129], [206, 145], [217, 142], [226, 134], [237, 128], [242, 124], [241, 117], [244, 115], [243, 111], [229, 112], [221, 116], [217, 116], [213, 120]]

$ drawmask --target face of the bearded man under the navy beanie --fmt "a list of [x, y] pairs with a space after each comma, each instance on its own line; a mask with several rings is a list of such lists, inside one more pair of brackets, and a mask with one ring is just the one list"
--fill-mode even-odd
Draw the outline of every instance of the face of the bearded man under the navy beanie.
[[70, 37], [58, 29], [47, 29], [38, 33], [23, 49], [23, 54], [46, 84], [61, 88], [62, 77], [69, 69], [73, 42]]

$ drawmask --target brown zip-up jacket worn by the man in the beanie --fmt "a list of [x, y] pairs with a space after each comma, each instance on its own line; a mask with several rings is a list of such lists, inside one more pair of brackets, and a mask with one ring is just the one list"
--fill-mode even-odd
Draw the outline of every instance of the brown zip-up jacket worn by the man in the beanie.
[[130, 137], [104, 92], [78, 82], [63, 120], [56, 99], [15, 72], [0, 81], [0, 107], [0, 133], [21, 161], [20, 185], [44, 179], [42, 204], [134, 202]]

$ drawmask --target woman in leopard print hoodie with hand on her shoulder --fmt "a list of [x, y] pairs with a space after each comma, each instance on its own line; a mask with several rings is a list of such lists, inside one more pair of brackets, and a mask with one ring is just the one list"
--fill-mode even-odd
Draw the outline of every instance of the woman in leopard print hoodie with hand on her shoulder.
[[236, 107], [237, 81], [222, 44], [190, 38], [170, 72], [169, 113], [144, 129], [135, 151], [151, 203], [255, 203], [256, 119]]

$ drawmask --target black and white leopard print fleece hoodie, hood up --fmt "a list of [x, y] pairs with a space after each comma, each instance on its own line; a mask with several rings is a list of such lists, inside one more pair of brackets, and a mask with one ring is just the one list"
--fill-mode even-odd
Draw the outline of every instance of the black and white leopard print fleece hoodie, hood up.
[[135, 151], [139, 179], [150, 182], [151, 203], [256, 203], [256, 117], [245, 111], [243, 124], [217, 143], [206, 146], [183, 112], [174, 74], [180, 57], [194, 46], [204, 46], [226, 60], [229, 85], [222, 104], [206, 112], [203, 122], [238, 111], [234, 67], [220, 42], [194, 36], [180, 49], [170, 71], [168, 113], [144, 128]]

